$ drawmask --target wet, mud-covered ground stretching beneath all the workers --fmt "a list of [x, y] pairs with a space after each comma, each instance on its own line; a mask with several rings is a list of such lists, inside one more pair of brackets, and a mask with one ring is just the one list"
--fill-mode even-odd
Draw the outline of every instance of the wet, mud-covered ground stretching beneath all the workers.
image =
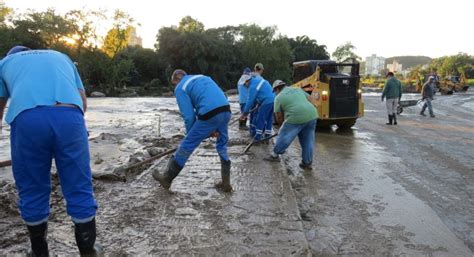
[[[406, 108], [399, 126], [385, 125], [379, 94], [364, 99], [366, 116], [352, 130], [318, 130], [310, 172], [298, 167], [297, 143], [281, 163], [262, 160], [271, 145], [242, 155], [249, 138], [234, 124], [232, 194], [214, 189], [220, 165], [212, 140], [171, 193], [151, 177], [166, 158], [117, 169], [177, 145], [183, 129], [174, 99], [90, 99], [98, 241], [111, 256], [473, 256], [474, 94], [438, 97], [435, 119]], [[0, 160], [9, 155], [8, 126], [2, 133]], [[52, 179], [50, 249], [77, 253]], [[29, 247], [15, 201], [11, 170], [0, 168], [0, 255]]]

